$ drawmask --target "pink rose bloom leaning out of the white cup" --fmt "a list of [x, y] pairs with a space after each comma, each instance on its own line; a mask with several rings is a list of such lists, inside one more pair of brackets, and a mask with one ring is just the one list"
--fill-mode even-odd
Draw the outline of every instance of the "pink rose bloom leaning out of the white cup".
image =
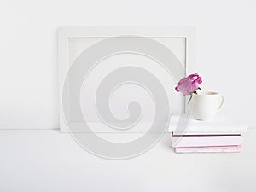
[[201, 82], [201, 77], [197, 73], [190, 74], [188, 77], [180, 79], [175, 90], [177, 92], [182, 92], [184, 96], [187, 96], [195, 92]]

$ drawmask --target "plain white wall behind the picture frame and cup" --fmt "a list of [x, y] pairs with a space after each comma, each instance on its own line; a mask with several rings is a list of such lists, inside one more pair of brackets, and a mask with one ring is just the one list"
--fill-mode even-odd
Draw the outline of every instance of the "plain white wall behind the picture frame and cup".
[[58, 128], [57, 26], [197, 26], [197, 72], [222, 113], [256, 127], [256, 3], [2, 0], [0, 128]]

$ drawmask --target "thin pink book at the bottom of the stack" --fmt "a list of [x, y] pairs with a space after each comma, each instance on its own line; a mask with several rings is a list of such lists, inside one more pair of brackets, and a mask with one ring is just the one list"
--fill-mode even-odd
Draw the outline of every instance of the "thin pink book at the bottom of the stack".
[[212, 147], [178, 147], [174, 148], [177, 154], [189, 153], [238, 153], [241, 152], [241, 145], [234, 146], [212, 146]]

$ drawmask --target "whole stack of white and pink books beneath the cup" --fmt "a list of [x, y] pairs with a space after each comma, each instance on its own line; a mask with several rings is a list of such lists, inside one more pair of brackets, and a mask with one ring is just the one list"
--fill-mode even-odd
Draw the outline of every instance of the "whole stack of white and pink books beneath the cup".
[[[188, 122], [188, 123], [187, 123]], [[179, 125], [178, 125], [179, 124]], [[176, 153], [235, 153], [241, 151], [246, 125], [172, 117], [172, 148]]]

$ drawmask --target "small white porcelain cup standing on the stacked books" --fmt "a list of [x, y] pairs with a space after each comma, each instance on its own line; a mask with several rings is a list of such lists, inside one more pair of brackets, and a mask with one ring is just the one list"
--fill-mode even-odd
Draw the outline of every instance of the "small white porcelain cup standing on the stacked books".
[[195, 119], [212, 119], [214, 114], [223, 106], [224, 97], [217, 92], [205, 91], [192, 96], [193, 110]]

